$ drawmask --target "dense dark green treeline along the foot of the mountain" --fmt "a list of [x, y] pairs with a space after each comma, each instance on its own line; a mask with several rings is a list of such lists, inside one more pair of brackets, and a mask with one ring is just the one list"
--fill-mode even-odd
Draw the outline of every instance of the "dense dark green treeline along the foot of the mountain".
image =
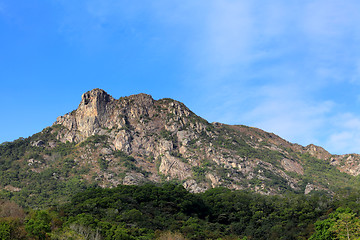
[[355, 239], [359, 199], [226, 188], [193, 194], [176, 184], [92, 188], [47, 210], [0, 202], [0, 239]]

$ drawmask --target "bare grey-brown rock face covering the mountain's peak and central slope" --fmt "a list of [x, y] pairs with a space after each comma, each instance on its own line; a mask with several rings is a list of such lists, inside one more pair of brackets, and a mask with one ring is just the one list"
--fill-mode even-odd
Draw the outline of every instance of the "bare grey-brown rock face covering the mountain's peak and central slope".
[[[180, 102], [156, 101], [146, 94], [114, 99], [94, 89], [82, 95], [77, 110], [59, 117], [55, 125], [62, 126], [57, 139], [63, 143], [82, 146], [95, 136], [105, 141], [96, 143], [95, 150], [80, 148], [75, 159], [79, 164], [96, 165], [98, 159], [106, 163], [105, 170], [94, 168], [104, 187], [173, 179], [193, 192], [216, 186], [264, 194], [283, 188], [306, 193], [323, 189], [315, 183], [299, 185], [305, 171], [299, 156], [305, 153], [331, 161], [349, 174], [360, 173], [358, 155], [332, 156], [321, 147], [302, 147], [260, 129], [210, 124]], [[124, 169], [117, 167], [119, 151], [132, 156], [122, 177], [118, 173]], [[285, 185], [274, 186], [272, 178], [282, 179]]]

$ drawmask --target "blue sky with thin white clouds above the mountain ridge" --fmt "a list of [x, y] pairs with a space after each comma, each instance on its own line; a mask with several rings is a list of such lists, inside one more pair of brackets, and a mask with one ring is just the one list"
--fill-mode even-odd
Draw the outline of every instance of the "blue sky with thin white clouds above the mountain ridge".
[[0, 0], [0, 142], [102, 88], [360, 153], [357, 0]]

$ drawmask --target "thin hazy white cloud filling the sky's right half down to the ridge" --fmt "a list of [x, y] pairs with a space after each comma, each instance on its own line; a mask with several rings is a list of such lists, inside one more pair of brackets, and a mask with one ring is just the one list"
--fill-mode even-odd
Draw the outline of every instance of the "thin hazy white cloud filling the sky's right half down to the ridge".
[[224, 0], [209, 5], [206, 27], [191, 50], [204, 95], [221, 99], [212, 102], [217, 105], [212, 111], [221, 114], [207, 113], [210, 119], [245, 122], [334, 152], [353, 149], [350, 141], [336, 148], [326, 144], [338, 133], [357, 131], [356, 118], [334, 125], [331, 119], [343, 113], [337, 105], [344, 100], [341, 93], [327, 92], [360, 79], [360, 2]]

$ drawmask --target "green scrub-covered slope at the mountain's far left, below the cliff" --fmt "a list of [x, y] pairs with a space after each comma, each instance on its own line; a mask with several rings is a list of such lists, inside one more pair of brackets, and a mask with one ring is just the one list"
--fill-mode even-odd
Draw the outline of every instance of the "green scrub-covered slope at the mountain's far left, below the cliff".
[[[42, 208], [69, 201], [69, 197], [92, 186], [78, 177], [84, 168], [74, 161], [75, 144], [56, 140], [55, 134], [61, 129], [55, 125], [0, 145], [0, 196], [26, 207]], [[47, 146], [53, 142], [54, 147], [33, 146], [37, 141]], [[7, 186], [17, 190], [5, 190]]]

